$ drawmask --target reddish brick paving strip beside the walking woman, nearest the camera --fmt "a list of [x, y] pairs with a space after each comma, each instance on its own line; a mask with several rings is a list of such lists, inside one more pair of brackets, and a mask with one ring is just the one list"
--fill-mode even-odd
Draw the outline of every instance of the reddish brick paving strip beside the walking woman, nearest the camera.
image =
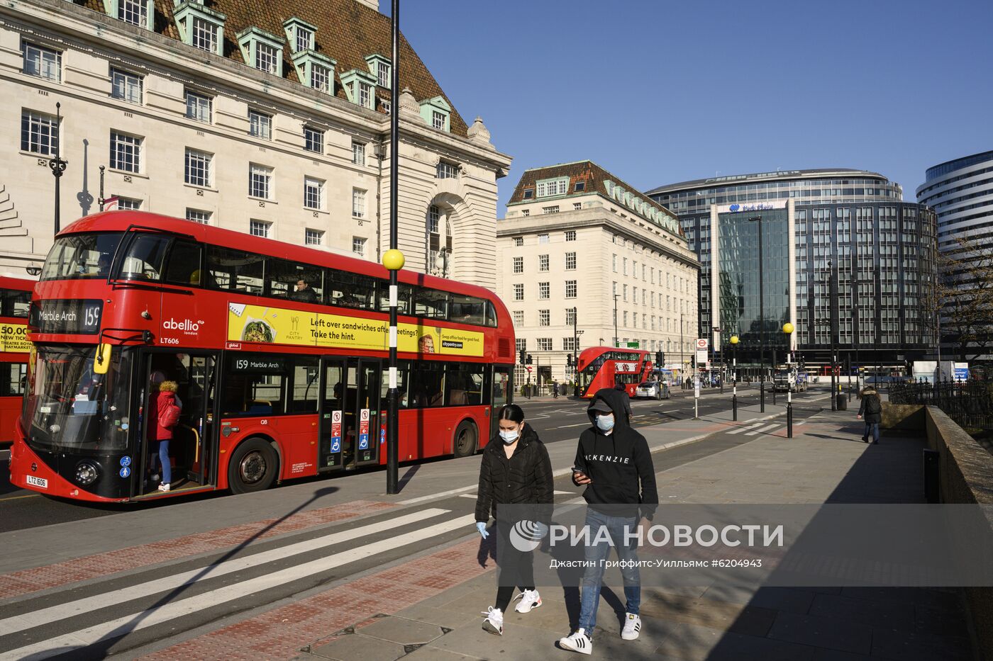
[[395, 613], [493, 571], [492, 563], [484, 569], [477, 562], [479, 547], [476, 539], [463, 542], [141, 658], [292, 659], [302, 647], [327, 644], [355, 622], [356, 628], [371, 624], [377, 613]]

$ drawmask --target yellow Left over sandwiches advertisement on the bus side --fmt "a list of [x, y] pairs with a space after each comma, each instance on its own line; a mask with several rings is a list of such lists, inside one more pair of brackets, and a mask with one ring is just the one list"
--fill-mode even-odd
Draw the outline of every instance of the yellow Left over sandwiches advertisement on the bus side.
[[[398, 324], [397, 349], [411, 353], [482, 356], [484, 334], [424, 324]], [[230, 303], [227, 339], [267, 344], [305, 344], [386, 350], [389, 323], [345, 315]]]

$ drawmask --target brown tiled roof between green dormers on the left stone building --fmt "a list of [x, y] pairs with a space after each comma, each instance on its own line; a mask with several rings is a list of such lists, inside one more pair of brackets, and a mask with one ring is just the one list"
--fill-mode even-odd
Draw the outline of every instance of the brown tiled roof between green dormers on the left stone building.
[[[76, 2], [93, 11], [103, 13], [103, 0]], [[285, 37], [283, 22], [298, 17], [317, 28], [315, 51], [335, 60], [335, 95], [347, 99], [341, 73], [357, 68], [368, 71], [367, 56], [378, 53], [389, 58], [392, 53], [390, 20], [376, 10], [356, 0], [204, 0], [213, 11], [227, 17], [224, 22], [224, 56], [242, 62], [236, 35], [249, 27]], [[180, 34], [173, 18], [173, 0], [155, 0], [155, 32], [179, 40]], [[290, 56], [290, 44], [283, 43], [283, 76], [298, 81], [296, 68]], [[443, 96], [452, 106], [451, 129], [454, 135], [466, 137], [468, 126], [455, 110], [438, 81], [421, 62], [407, 40], [400, 35], [400, 87], [410, 87], [418, 101]], [[389, 100], [389, 89], [376, 87], [376, 97]], [[394, 110], [399, 110], [394, 104]]]

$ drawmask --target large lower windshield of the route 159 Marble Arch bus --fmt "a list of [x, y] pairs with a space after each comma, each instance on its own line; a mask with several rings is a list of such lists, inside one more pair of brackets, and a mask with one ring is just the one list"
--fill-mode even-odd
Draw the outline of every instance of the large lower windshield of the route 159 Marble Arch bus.
[[29, 444], [50, 450], [125, 449], [132, 354], [114, 347], [107, 373], [96, 374], [95, 345], [39, 348], [24, 399]]

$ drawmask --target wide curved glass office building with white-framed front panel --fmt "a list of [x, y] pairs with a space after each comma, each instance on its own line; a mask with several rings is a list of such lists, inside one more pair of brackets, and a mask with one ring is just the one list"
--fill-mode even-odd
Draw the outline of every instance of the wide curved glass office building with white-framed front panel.
[[[700, 328], [711, 330], [718, 350], [739, 335], [739, 362], [758, 364], [765, 329], [767, 347], [826, 365], [832, 314], [840, 362], [850, 356], [869, 369], [903, 369], [933, 352], [935, 329], [922, 301], [935, 281], [934, 213], [902, 201], [899, 184], [862, 170], [793, 170], [684, 182], [647, 195], [678, 215], [699, 256]], [[796, 328], [791, 345], [781, 332], [786, 322]]]

